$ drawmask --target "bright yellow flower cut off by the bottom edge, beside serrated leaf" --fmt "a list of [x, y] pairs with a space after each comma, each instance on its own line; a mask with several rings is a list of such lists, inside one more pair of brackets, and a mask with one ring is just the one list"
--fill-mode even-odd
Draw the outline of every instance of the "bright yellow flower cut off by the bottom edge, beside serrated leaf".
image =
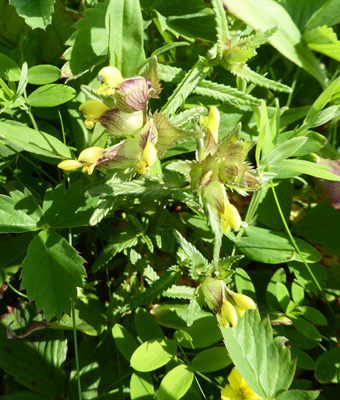
[[236, 368], [233, 368], [228, 376], [229, 384], [221, 391], [222, 400], [252, 400], [261, 399], [248, 383], [242, 378]]

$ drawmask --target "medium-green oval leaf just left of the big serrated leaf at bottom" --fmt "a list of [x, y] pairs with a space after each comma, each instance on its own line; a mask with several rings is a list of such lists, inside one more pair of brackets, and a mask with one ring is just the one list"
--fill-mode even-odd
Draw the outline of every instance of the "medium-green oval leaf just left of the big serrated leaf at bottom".
[[232, 363], [227, 349], [222, 346], [209, 347], [199, 352], [191, 361], [194, 371], [214, 372], [226, 368]]

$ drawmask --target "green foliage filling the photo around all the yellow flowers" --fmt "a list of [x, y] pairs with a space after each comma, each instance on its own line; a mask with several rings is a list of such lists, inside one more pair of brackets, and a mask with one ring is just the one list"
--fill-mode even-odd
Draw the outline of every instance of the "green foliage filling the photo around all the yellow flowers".
[[[336, 398], [339, 7], [0, 0], [2, 399], [215, 399], [233, 365], [263, 399]], [[98, 72], [156, 61], [171, 148], [149, 174], [65, 176], [116, 143], [78, 113]], [[254, 143], [259, 190], [228, 190], [239, 232], [190, 187], [212, 106], [220, 141]], [[236, 327], [205, 306], [212, 274], [257, 303]]]

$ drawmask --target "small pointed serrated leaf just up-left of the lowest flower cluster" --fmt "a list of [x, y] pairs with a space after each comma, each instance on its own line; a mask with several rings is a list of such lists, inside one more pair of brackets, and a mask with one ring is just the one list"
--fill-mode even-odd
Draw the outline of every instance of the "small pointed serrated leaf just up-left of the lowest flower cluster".
[[183, 260], [183, 265], [189, 269], [189, 274], [194, 279], [199, 279], [208, 269], [208, 260], [179, 232], [175, 231], [174, 235], [179, 247], [184, 251], [185, 259]]

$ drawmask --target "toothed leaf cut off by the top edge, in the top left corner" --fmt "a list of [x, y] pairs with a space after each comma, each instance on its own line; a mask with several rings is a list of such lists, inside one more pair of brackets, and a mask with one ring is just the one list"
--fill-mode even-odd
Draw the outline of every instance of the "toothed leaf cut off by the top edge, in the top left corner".
[[20, 17], [25, 19], [27, 25], [32, 29], [46, 27], [52, 23], [52, 13], [55, 0], [9, 0]]

